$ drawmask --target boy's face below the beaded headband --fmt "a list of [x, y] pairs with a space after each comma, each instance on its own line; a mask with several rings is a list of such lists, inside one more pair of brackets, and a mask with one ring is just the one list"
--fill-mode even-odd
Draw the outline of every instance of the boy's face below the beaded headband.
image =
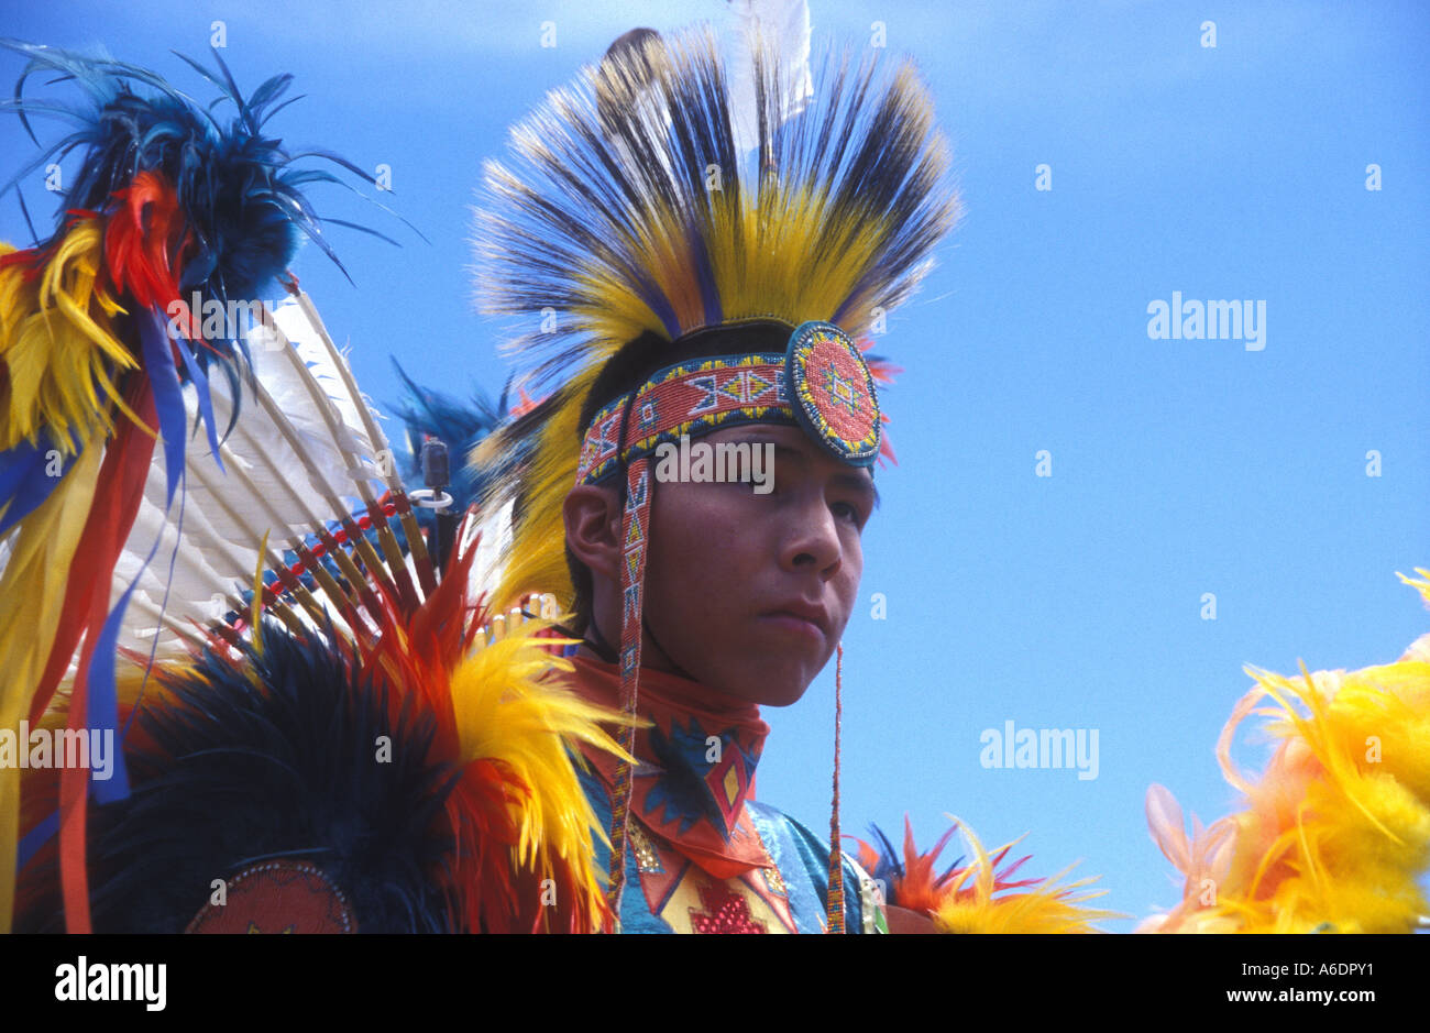
[[655, 486], [642, 665], [788, 705], [829, 661], [854, 608], [872, 476], [794, 426], [738, 426], [695, 442], [772, 444], [772, 488]]

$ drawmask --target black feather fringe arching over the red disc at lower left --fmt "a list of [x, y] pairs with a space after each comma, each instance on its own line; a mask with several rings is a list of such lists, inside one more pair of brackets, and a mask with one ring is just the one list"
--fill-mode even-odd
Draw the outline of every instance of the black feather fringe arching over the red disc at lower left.
[[[389, 720], [333, 640], [265, 624], [262, 651], [239, 664], [210, 652], [159, 675], [173, 698], [139, 713], [152, 745], [126, 750], [133, 795], [92, 813], [96, 931], [183, 931], [212, 880], [273, 857], [322, 868], [359, 931], [452, 931], [439, 887], [458, 773], [428, 761], [433, 717], [409, 698]], [[380, 735], [390, 763], [376, 760]]]

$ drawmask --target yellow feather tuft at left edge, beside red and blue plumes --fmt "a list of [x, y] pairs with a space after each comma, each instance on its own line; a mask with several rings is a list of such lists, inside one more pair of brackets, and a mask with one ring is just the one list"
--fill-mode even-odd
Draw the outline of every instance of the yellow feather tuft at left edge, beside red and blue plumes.
[[[7, 373], [0, 382], [0, 451], [33, 445], [43, 429], [67, 455], [73, 434], [113, 429], [113, 406], [139, 422], [114, 383], [139, 363], [113, 333], [110, 320], [123, 309], [94, 282], [103, 245], [103, 227], [82, 219], [40, 276], [27, 280], [24, 265], [0, 269], [0, 363]], [[0, 245], [0, 255], [13, 250]]]

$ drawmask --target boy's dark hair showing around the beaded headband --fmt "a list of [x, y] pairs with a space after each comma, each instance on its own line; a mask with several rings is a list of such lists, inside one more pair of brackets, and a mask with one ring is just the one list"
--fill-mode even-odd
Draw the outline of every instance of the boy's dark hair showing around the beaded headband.
[[[789, 343], [791, 326], [778, 319], [752, 319], [728, 326], [711, 326], [695, 331], [678, 341], [666, 341], [659, 333], [646, 331], [633, 341], [626, 342], [619, 352], [611, 356], [605, 368], [596, 376], [595, 383], [586, 393], [581, 405], [581, 419], [576, 424], [576, 445], [585, 438], [592, 419], [599, 409], [609, 405], [628, 391], [638, 389], [651, 373], [665, 366], [688, 359], [705, 359], [715, 355], [741, 355], [749, 352], [784, 352]], [[616, 491], [625, 498], [625, 479], [616, 482]], [[583, 562], [576, 559], [571, 547], [566, 547], [566, 568], [571, 571], [571, 584], [575, 589], [572, 601], [573, 618], [571, 631], [585, 634], [591, 624], [591, 571]]]

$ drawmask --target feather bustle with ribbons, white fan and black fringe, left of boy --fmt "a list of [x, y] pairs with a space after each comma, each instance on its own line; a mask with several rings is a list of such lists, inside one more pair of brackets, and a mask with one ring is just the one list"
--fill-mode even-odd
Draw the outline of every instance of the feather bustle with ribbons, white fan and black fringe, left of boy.
[[332, 255], [303, 190], [337, 182], [267, 129], [292, 76], [245, 96], [192, 62], [220, 119], [9, 46], [89, 104], [7, 103], [76, 123], [37, 163], [86, 157], [54, 233], [0, 256], [0, 924], [598, 927], [571, 757], [618, 747], [543, 625], [469, 594], [476, 541], [428, 549], [286, 275], [300, 235]]

